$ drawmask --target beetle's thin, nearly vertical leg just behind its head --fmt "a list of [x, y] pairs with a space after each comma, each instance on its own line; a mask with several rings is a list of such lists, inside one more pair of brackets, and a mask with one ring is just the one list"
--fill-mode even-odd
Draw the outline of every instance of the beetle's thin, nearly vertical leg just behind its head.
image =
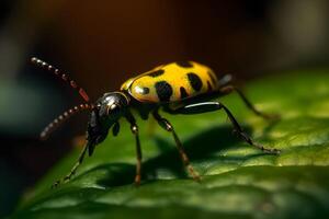
[[138, 135], [138, 126], [136, 124], [136, 119], [131, 113], [126, 114], [127, 120], [131, 123], [131, 130], [135, 136], [136, 139], [136, 155], [137, 155], [137, 163], [136, 163], [136, 176], [135, 176], [135, 184], [140, 184], [141, 178], [141, 148], [140, 148], [140, 141], [139, 141], [139, 135]]

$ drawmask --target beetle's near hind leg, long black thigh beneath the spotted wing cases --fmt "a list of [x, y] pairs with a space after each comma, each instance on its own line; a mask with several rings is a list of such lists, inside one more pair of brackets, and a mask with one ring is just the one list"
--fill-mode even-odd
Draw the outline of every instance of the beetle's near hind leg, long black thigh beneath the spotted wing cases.
[[266, 153], [280, 153], [280, 150], [277, 150], [277, 149], [264, 148], [261, 145], [254, 143], [252, 141], [252, 139], [246, 132], [242, 131], [242, 128], [240, 127], [240, 125], [238, 124], [236, 118], [232, 116], [230, 111], [219, 102], [203, 102], [203, 103], [190, 104], [190, 105], [185, 105], [180, 108], [177, 108], [177, 110], [172, 110], [169, 113], [172, 113], [172, 114], [200, 114], [200, 113], [206, 113], [206, 112], [213, 112], [213, 111], [219, 111], [219, 110], [225, 111], [226, 115], [228, 116], [230, 123], [234, 126], [235, 132], [237, 132], [239, 135], [239, 137], [241, 137], [247, 143], [249, 143], [250, 146], [253, 146]]

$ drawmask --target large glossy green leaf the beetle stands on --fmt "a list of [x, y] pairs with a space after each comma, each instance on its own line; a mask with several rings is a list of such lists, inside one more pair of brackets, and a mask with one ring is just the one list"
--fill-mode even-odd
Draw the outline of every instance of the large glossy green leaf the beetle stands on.
[[144, 181], [136, 187], [135, 141], [123, 120], [121, 135], [98, 146], [69, 183], [49, 188], [79, 151], [37, 184], [13, 218], [328, 218], [328, 73], [314, 70], [248, 84], [247, 94], [258, 108], [281, 115], [272, 123], [248, 111], [237, 94], [220, 99], [257, 142], [281, 149], [280, 155], [237, 139], [223, 112], [163, 114], [201, 183], [189, 178], [171, 136], [154, 122], [138, 120]]

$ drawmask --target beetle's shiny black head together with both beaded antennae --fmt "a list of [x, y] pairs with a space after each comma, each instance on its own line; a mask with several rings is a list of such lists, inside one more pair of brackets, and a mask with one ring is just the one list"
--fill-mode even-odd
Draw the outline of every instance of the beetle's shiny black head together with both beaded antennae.
[[89, 148], [90, 155], [92, 154], [94, 147], [106, 138], [109, 129], [112, 126], [114, 126], [113, 134], [116, 135], [118, 132], [120, 126], [117, 120], [120, 117], [125, 115], [126, 108], [129, 104], [129, 99], [124, 93], [105, 93], [95, 104], [90, 104], [90, 99], [84, 89], [79, 87], [67, 73], [61, 72], [56, 67], [35, 57], [31, 59], [31, 62], [63, 79], [63, 82], [68, 83], [73, 90], [76, 90], [84, 102], [83, 104], [69, 108], [49, 123], [48, 126], [46, 126], [46, 128], [41, 132], [42, 139], [46, 139], [49, 134], [52, 134], [65, 120], [82, 111], [91, 111], [87, 130], [87, 146]]

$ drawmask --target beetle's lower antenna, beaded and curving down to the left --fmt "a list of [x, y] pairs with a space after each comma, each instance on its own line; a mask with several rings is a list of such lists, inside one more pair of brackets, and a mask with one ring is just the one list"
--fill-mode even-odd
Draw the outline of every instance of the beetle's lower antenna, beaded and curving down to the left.
[[64, 122], [66, 122], [68, 118], [70, 118], [72, 115], [82, 112], [82, 111], [92, 111], [94, 108], [94, 105], [92, 104], [80, 104], [72, 108], [69, 108], [68, 111], [64, 112], [61, 115], [59, 115], [57, 118], [55, 118], [52, 123], [49, 123], [44, 130], [41, 132], [39, 137], [42, 140], [45, 140], [49, 137], [49, 135], [58, 128]]

